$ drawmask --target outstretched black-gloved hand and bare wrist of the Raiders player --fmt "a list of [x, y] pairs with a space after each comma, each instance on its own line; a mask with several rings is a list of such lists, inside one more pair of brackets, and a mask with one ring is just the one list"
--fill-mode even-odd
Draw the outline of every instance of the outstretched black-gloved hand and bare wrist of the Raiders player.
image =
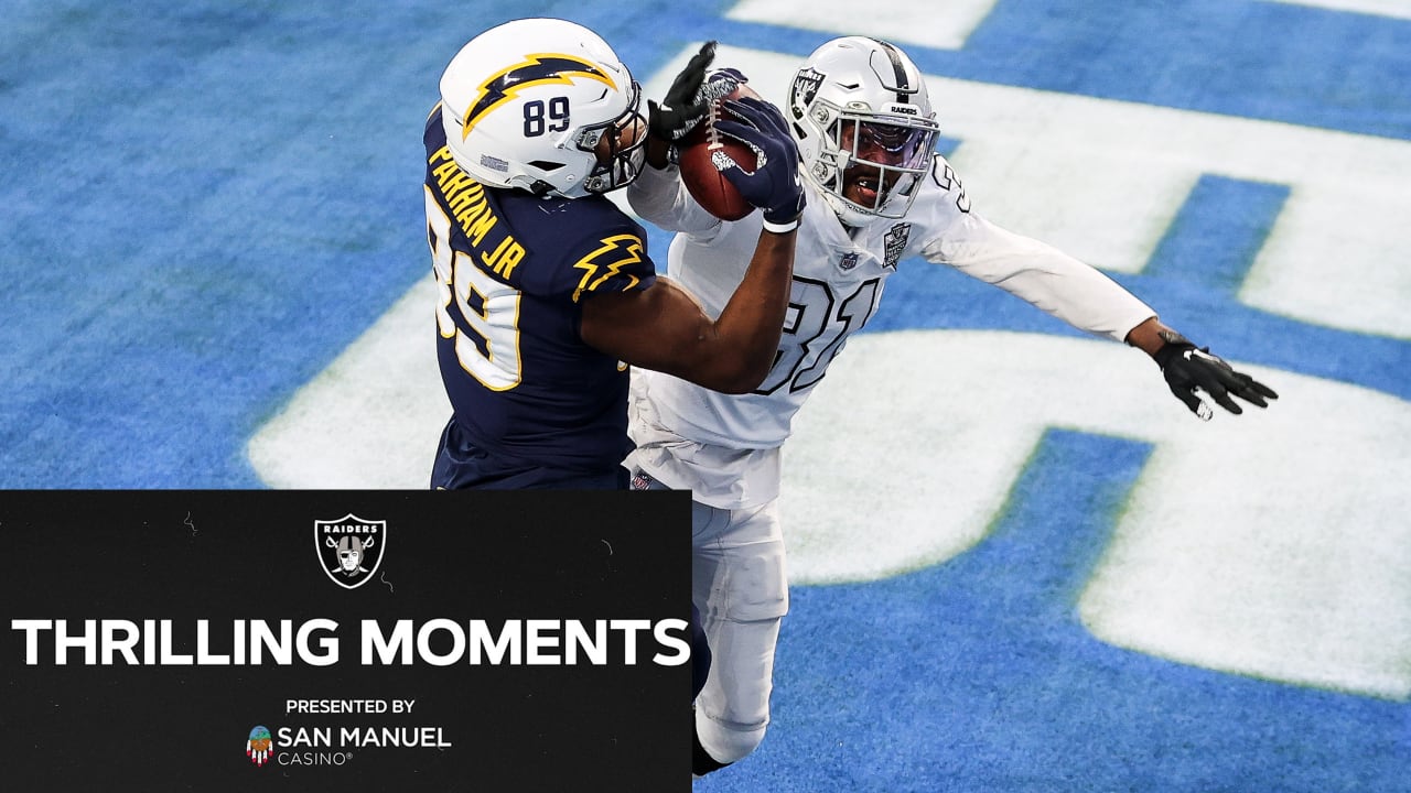
[[1239, 396], [1250, 405], [1268, 406], [1268, 399], [1278, 394], [1253, 377], [1235, 371], [1225, 360], [1211, 354], [1209, 347], [1199, 347], [1178, 332], [1151, 317], [1127, 333], [1127, 344], [1140, 347], [1161, 367], [1171, 394], [1185, 404], [1192, 413], [1204, 420], [1213, 415], [1211, 406], [1201, 399], [1204, 391], [1219, 406], [1232, 413], [1243, 413]]

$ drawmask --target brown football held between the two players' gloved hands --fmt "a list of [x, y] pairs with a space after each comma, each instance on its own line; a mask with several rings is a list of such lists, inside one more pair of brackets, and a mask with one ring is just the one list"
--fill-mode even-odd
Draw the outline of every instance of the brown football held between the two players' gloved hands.
[[725, 169], [738, 165], [753, 172], [758, 168], [756, 150], [721, 128], [721, 121], [725, 121], [727, 128], [734, 123], [725, 102], [746, 96], [759, 99], [745, 85], [744, 75], [735, 69], [713, 72], [697, 95], [697, 100], [706, 103], [706, 116], [677, 144], [676, 161], [682, 169], [682, 182], [696, 203], [721, 220], [739, 220], [755, 210], [725, 176]]

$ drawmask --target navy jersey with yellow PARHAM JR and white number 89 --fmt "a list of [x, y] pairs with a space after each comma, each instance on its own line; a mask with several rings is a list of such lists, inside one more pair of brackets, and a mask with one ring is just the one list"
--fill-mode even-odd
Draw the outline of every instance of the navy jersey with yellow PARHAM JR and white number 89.
[[631, 450], [628, 370], [587, 346], [579, 323], [594, 293], [656, 281], [642, 226], [602, 196], [485, 188], [452, 159], [440, 111], [425, 143], [437, 356], [453, 435], [477, 459], [471, 476], [442, 485], [614, 471]]

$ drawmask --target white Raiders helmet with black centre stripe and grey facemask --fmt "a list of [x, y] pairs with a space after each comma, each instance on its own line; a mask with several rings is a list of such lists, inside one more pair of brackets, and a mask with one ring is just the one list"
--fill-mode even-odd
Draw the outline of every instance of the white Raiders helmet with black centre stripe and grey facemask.
[[794, 75], [789, 113], [804, 176], [840, 220], [906, 214], [938, 130], [906, 52], [861, 35], [824, 44]]

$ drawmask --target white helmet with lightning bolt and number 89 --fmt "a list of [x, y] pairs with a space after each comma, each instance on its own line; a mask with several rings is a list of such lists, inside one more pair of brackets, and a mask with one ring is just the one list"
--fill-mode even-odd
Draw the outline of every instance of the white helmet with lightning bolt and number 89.
[[641, 93], [588, 28], [515, 20], [470, 40], [446, 66], [442, 123], [456, 164], [481, 183], [580, 198], [641, 172]]

